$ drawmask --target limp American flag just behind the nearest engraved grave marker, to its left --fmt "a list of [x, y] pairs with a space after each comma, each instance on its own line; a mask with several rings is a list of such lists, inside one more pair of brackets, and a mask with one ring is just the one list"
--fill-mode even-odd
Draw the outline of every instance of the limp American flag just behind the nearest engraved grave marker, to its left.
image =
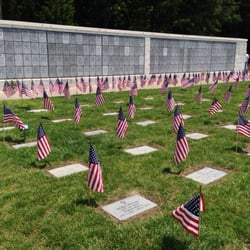
[[88, 187], [96, 192], [104, 192], [102, 169], [92, 144], [89, 147]]

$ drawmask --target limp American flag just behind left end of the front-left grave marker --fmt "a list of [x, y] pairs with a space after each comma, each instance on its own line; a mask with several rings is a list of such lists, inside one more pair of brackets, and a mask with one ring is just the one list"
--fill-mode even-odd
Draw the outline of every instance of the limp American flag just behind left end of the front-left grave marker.
[[47, 157], [51, 152], [48, 138], [40, 123], [37, 129], [37, 159], [40, 161]]

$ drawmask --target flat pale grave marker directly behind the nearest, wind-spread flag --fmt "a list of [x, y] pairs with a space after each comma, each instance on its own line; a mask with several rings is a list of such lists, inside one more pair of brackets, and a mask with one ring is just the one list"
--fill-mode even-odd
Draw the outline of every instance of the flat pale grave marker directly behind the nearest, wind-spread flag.
[[209, 184], [227, 175], [226, 172], [213, 169], [210, 167], [204, 167], [198, 171], [188, 174], [186, 178], [200, 182], [202, 184]]

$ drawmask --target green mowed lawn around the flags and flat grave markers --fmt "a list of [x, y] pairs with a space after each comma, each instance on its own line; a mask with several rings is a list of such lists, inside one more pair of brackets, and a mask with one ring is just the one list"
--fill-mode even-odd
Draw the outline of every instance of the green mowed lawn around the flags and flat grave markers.
[[[23, 141], [18, 129], [0, 132], [0, 248], [1, 249], [250, 249], [250, 170], [246, 151], [250, 140], [235, 131], [221, 128], [236, 124], [239, 104], [245, 98], [248, 83], [233, 89], [230, 103], [223, 96], [229, 85], [220, 83], [211, 93], [203, 85], [203, 98], [197, 104], [199, 86], [182, 90], [171, 88], [185, 120], [185, 133], [199, 132], [208, 137], [188, 139], [190, 152], [179, 165], [173, 156], [176, 134], [172, 129], [173, 112], [165, 108], [166, 94], [159, 89], [140, 89], [134, 97], [135, 119], [130, 120], [128, 91], [104, 93], [106, 103], [94, 106], [95, 94], [77, 95], [83, 106], [78, 125], [73, 121], [52, 123], [53, 119], [72, 118], [74, 101], [51, 97], [55, 111], [29, 113], [43, 106], [43, 99], [8, 100], [5, 103], [22, 121], [29, 124], [26, 141], [36, 141], [37, 127], [42, 123], [52, 152], [36, 160], [36, 147], [12, 148]], [[146, 97], [153, 97], [145, 100]], [[208, 108], [213, 97], [223, 105], [223, 112], [211, 116]], [[123, 101], [121, 104], [115, 102]], [[122, 106], [129, 128], [125, 139], [115, 135], [117, 115]], [[142, 107], [152, 107], [141, 110]], [[249, 117], [246, 114], [245, 117]], [[250, 117], [249, 117], [250, 118]], [[2, 115], [1, 115], [1, 121]], [[142, 127], [138, 121], [156, 123]], [[3, 124], [1, 127], [12, 124]], [[85, 136], [83, 132], [104, 129], [108, 133]], [[89, 142], [94, 145], [103, 171], [104, 193], [90, 191], [87, 172], [63, 178], [50, 175], [48, 169], [70, 163], [88, 164]], [[124, 149], [148, 145], [158, 150], [133, 156]], [[203, 166], [226, 171], [228, 175], [209, 185], [185, 178]], [[180, 175], [172, 172], [181, 170]], [[171, 212], [199, 192], [206, 210], [201, 214], [199, 242], [171, 217]], [[117, 223], [101, 209], [132, 194], [157, 203], [155, 209], [128, 221]]]

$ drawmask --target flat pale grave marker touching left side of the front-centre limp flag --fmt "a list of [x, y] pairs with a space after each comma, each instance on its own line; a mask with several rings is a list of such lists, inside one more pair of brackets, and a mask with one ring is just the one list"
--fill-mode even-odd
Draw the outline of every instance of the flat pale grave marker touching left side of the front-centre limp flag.
[[63, 167], [59, 167], [59, 168], [54, 168], [54, 169], [50, 169], [48, 170], [48, 172], [57, 177], [64, 177], [67, 175], [71, 175], [71, 174], [75, 174], [75, 173], [79, 173], [79, 172], [83, 172], [83, 171], [87, 171], [88, 167], [80, 164], [80, 163], [74, 163], [74, 164], [70, 164], [67, 166], [63, 166]]

